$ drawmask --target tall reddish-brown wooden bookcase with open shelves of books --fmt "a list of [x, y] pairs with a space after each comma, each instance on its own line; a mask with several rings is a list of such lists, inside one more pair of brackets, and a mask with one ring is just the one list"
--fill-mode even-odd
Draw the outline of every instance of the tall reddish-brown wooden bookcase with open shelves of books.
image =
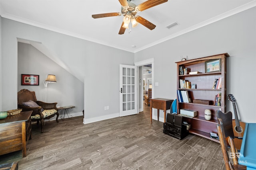
[[[180, 61], [177, 63], [177, 91], [187, 91], [191, 102], [181, 102], [179, 101], [177, 95], [177, 112], [180, 114], [180, 109], [190, 109], [197, 111], [197, 116], [190, 118], [184, 117], [184, 121], [187, 121], [191, 128], [189, 130], [190, 133], [205, 137], [207, 139], [216, 141], [218, 140], [210, 138], [210, 132], [217, 133], [216, 125], [216, 110], [221, 110], [222, 112], [226, 112], [226, 57], [229, 57], [228, 53], [214, 55], [209, 57], [203, 57], [199, 59], [192, 59], [187, 61]], [[218, 71], [208, 72], [206, 71], [206, 62], [209, 61], [217, 61], [220, 62], [220, 67]], [[180, 75], [180, 68], [189, 68], [190, 72], [200, 72], [197, 74], [186, 74]], [[183, 73], [184, 74], [184, 73]], [[221, 78], [221, 89], [213, 89], [213, 84], [215, 79]], [[196, 84], [196, 88], [182, 88], [180, 86], [180, 80], [187, 80], [191, 82], [191, 84]], [[193, 100], [210, 100], [214, 102], [216, 94], [221, 94], [221, 102], [220, 106], [213, 105], [205, 105], [205, 104], [195, 104]], [[212, 118], [210, 120], [206, 120], [204, 118], [205, 109], [210, 109]]]

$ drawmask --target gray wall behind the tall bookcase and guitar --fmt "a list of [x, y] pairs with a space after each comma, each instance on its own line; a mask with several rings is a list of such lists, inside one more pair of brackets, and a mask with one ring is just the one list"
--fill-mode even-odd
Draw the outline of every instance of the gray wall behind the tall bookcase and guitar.
[[[176, 98], [176, 61], [228, 53], [227, 94], [236, 98], [241, 121], [256, 122], [253, 109], [256, 63], [256, 8], [165, 41], [135, 54], [135, 62], [154, 57], [154, 98]], [[226, 111], [233, 111], [226, 102]], [[154, 110], [156, 115], [156, 110]], [[163, 118], [163, 113], [160, 113]]]

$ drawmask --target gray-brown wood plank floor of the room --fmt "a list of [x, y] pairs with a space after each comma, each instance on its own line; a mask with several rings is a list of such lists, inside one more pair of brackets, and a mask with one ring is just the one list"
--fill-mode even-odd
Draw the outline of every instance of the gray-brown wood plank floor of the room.
[[163, 133], [163, 123], [150, 123], [150, 108], [126, 117], [84, 125], [83, 117], [47, 121], [44, 133], [32, 125], [27, 156], [0, 156], [17, 161], [20, 170], [222, 170], [220, 144], [188, 135], [182, 140]]

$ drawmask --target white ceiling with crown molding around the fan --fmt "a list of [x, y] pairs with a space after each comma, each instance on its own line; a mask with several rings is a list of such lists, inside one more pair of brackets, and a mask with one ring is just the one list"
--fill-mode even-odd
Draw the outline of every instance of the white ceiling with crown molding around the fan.
[[[137, 14], [155, 29], [139, 24], [123, 35], [118, 34], [123, 16], [92, 18], [92, 14], [121, 12], [118, 0], [0, 0], [0, 15], [135, 53], [254, 6], [256, 0], [168, 0]], [[166, 28], [174, 22], [178, 25]]]

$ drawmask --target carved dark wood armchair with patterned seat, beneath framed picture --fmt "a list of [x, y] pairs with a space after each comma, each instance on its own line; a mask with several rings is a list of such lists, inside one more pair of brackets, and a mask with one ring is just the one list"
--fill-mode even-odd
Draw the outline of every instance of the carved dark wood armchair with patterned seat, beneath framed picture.
[[[37, 107], [25, 106], [25, 102], [35, 102]], [[36, 100], [36, 94], [33, 91], [29, 91], [27, 89], [22, 89], [18, 92], [18, 108], [22, 109], [22, 111], [32, 110], [31, 121], [37, 121], [37, 123], [41, 123], [41, 132], [44, 132], [44, 119], [50, 119], [51, 117], [56, 117], [56, 122], [58, 121], [59, 113], [56, 107], [57, 103], [45, 103]], [[43, 109], [43, 110], [42, 110]]]

